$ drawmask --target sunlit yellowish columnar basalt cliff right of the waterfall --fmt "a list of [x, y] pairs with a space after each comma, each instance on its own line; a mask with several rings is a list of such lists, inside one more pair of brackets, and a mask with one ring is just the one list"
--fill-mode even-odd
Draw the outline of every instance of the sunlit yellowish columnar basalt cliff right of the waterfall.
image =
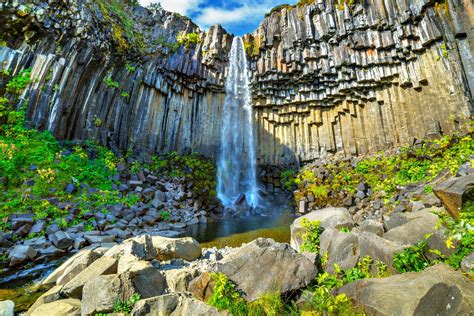
[[262, 163], [364, 154], [472, 114], [471, 1], [315, 1], [246, 37]]

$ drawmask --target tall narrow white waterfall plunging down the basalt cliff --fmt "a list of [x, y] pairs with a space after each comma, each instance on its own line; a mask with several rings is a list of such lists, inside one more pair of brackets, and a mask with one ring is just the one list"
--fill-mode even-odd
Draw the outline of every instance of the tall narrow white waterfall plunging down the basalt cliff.
[[232, 207], [245, 194], [247, 204], [256, 207], [259, 193], [252, 95], [244, 42], [240, 37], [232, 42], [229, 64], [217, 165], [217, 196], [224, 206]]

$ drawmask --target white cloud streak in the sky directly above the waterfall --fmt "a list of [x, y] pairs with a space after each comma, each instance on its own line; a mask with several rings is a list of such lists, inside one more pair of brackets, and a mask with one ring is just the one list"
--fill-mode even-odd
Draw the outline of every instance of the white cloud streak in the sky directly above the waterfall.
[[278, 0], [264, 0], [264, 1], [245, 1], [240, 0], [240, 6], [226, 9], [219, 7], [204, 8], [197, 17], [196, 22], [208, 28], [214, 24], [244, 24], [246, 22], [254, 22], [255, 19], [260, 19], [265, 13], [269, 12], [273, 7], [280, 4]]

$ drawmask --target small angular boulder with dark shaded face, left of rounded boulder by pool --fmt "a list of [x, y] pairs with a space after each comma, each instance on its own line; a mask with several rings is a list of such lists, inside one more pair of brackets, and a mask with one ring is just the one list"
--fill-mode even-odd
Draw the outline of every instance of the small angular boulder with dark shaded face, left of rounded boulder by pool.
[[[154, 237], [153, 237], [154, 238]], [[108, 250], [104, 256], [119, 258], [124, 255], [132, 255], [141, 260], [152, 260], [156, 258], [156, 250], [149, 235], [130, 238]]]

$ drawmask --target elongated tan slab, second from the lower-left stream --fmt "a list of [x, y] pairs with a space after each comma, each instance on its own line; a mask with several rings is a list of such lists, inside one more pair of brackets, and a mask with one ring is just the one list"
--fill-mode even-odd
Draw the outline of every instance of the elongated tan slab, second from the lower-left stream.
[[84, 284], [100, 275], [117, 273], [117, 260], [111, 257], [101, 257], [95, 260], [85, 270], [67, 282], [61, 290], [61, 294], [70, 298], [82, 298]]

